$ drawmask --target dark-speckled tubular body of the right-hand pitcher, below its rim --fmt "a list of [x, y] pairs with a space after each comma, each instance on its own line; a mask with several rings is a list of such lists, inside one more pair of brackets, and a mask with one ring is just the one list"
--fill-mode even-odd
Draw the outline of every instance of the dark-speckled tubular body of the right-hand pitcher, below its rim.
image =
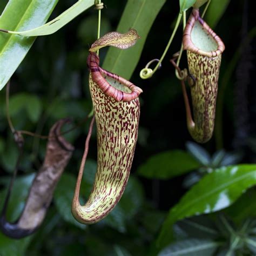
[[196, 78], [191, 87], [194, 127], [189, 131], [197, 142], [205, 143], [214, 129], [221, 55], [209, 58], [187, 51], [187, 60], [190, 73]]

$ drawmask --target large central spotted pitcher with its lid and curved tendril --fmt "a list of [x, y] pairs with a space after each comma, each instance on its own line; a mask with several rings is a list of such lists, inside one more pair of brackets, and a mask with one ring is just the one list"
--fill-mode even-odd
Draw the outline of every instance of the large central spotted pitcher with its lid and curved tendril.
[[72, 201], [72, 214], [80, 223], [93, 224], [103, 219], [122, 197], [130, 174], [140, 116], [138, 96], [142, 90], [100, 68], [96, 51], [107, 45], [126, 49], [134, 45], [138, 38], [134, 29], [124, 34], [110, 32], [100, 37], [89, 50], [87, 65], [97, 125], [98, 153], [95, 182], [86, 204], [82, 206], [79, 191], [94, 121], [92, 118]]

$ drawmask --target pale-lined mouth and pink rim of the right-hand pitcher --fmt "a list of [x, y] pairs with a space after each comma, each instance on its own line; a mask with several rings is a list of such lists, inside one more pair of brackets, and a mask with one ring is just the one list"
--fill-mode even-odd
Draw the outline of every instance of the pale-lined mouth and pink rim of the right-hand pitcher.
[[199, 10], [193, 9], [183, 33], [184, 50], [207, 57], [216, 57], [225, 50], [219, 36], [199, 16]]

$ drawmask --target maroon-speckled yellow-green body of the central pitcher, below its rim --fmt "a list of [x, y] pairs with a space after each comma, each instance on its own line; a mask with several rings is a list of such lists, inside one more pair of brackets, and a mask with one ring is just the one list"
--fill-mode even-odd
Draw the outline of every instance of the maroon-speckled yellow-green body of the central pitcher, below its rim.
[[117, 102], [89, 77], [97, 125], [97, 173], [89, 199], [76, 205], [84, 224], [103, 219], [120, 200], [129, 178], [138, 136], [139, 99]]

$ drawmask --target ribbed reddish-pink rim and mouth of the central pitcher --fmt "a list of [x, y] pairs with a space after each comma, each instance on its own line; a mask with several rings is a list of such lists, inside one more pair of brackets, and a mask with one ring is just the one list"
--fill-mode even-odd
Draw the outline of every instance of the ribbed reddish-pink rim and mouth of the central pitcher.
[[92, 80], [99, 86], [103, 93], [117, 102], [130, 102], [139, 97], [142, 89], [130, 81], [119, 77], [99, 66], [99, 57], [96, 53], [90, 52], [87, 65], [91, 71]]

